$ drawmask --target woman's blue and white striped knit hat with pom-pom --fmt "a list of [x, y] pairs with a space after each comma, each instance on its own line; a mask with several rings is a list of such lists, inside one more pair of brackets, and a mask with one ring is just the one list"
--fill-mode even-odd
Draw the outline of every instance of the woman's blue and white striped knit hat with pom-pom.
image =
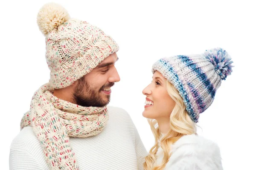
[[216, 90], [232, 72], [230, 56], [222, 48], [207, 50], [201, 55], [178, 55], [154, 63], [152, 72], [159, 71], [171, 82], [186, 105], [194, 122], [212, 104]]

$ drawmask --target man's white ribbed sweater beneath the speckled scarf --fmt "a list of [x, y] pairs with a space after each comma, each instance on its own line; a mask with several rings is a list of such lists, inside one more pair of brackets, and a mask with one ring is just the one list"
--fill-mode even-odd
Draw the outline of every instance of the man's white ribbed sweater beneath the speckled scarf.
[[[143, 170], [147, 152], [128, 113], [108, 107], [109, 121], [96, 136], [70, 138], [80, 170]], [[10, 170], [49, 170], [32, 127], [25, 127], [12, 141]]]

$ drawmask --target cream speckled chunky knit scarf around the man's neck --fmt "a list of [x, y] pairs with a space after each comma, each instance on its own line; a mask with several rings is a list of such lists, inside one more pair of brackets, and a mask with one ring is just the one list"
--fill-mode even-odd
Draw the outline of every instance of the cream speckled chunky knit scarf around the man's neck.
[[52, 170], [79, 170], [70, 137], [86, 138], [100, 133], [108, 122], [107, 107], [82, 107], [58, 99], [49, 84], [35, 92], [21, 129], [32, 126]]

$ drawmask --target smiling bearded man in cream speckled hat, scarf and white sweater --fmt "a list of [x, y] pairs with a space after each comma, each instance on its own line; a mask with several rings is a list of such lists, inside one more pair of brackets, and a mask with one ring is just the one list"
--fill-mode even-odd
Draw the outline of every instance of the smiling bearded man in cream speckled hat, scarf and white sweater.
[[106, 106], [120, 80], [116, 42], [55, 3], [41, 8], [38, 26], [46, 36], [50, 79], [23, 116], [10, 169], [143, 169], [147, 153], [130, 116]]

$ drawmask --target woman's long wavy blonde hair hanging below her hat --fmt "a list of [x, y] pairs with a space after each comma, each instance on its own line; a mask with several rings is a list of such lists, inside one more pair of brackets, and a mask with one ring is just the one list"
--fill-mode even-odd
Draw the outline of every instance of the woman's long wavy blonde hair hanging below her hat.
[[186, 106], [179, 92], [174, 87], [174, 85], [172, 85], [167, 80], [166, 89], [168, 94], [175, 101], [175, 107], [173, 108], [170, 115], [171, 130], [168, 134], [166, 134], [166, 136], [163, 136], [160, 141], [160, 146], [164, 151], [163, 160], [160, 165], [154, 165], [154, 162], [157, 159], [156, 153], [159, 147], [161, 134], [157, 125], [157, 121], [155, 119], [148, 119], [151, 131], [154, 134], [155, 144], [149, 151], [148, 156], [145, 157], [145, 163], [143, 164], [144, 170], [163, 170], [171, 156], [171, 145], [184, 135], [196, 134], [196, 124], [189, 117], [189, 114], [186, 111]]

